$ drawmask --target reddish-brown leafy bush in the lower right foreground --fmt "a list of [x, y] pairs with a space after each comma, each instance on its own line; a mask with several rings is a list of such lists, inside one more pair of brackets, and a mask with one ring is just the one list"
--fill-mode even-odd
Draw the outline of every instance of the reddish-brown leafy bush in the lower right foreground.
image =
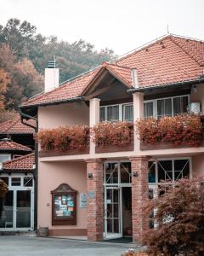
[[175, 188], [149, 201], [156, 229], [144, 235], [150, 256], [204, 255], [204, 188], [199, 180], [181, 179]]

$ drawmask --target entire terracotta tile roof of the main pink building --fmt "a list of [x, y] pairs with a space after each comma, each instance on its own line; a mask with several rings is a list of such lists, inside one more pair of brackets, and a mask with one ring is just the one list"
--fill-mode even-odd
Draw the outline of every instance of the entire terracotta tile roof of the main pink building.
[[[55, 90], [31, 98], [23, 106], [65, 101], [81, 96], [82, 91], [101, 67], [103, 65]], [[200, 79], [204, 68], [204, 42], [167, 35], [112, 63], [105, 64], [105, 68], [128, 87], [132, 86], [133, 68], [137, 69], [140, 87]]]

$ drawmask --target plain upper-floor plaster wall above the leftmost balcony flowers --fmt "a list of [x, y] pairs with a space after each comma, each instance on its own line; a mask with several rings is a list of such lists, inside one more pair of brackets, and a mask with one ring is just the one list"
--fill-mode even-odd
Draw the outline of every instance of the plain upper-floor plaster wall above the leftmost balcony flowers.
[[74, 102], [40, 107], [38, 110], [39, 129], [54, 128], [60, 125], [89, 125], [89, 108], [84, 102], [81, 104], [81, 107], [76, 107]]

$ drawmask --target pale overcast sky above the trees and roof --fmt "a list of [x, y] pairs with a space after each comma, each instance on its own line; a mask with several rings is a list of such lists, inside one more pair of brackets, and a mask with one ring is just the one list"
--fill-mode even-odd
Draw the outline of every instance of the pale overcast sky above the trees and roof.
[[0, 0], [0, 24], [30, 21], [42, 35], [82, 38], [117, 55], [169, 32], [204, 40], [203, 0]]

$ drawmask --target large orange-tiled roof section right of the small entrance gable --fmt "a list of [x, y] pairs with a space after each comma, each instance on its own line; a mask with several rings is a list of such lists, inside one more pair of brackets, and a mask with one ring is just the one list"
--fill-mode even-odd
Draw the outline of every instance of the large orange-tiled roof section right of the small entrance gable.
[[167, 36], [116, 61], [136, 68], [139, 86], [199, 79], [203, 73], [204, 42]]

